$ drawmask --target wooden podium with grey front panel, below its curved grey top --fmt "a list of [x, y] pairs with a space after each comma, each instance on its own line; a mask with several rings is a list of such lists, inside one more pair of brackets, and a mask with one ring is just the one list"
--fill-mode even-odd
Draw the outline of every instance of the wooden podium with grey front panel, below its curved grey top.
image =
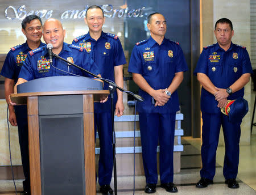
[[108, 90], [11, 94], [27, 104], [32, 195], [96, 194], [93, 102]]

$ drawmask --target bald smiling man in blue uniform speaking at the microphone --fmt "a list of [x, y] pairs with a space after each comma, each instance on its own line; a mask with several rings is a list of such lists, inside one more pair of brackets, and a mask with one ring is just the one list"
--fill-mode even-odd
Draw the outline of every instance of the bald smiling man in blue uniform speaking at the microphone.
[[[100, 76], [97, 65], [92, 61], [88, 53], [85, 52], [84, 48], [64, 43], [64, 37], [65, 30], [59, 20], [53, 18], [46, 20], [43, 26], [43, 38], [46, 44], [52, 44], [52, 52]], [[20, 70], [18, 82], [14, 87], [14, 92], [16, 92], [16, 86], [18, 84], [27, 82], [28, 80], [71, 75], [69, 73], [90, 77], [84, 71], [81, 71], [77, 67], [69, 66], [68, 63], [57, 58], [53, 58], [51, 66], [46, 46], [40, 47], [28, 52], [27, 59]]]

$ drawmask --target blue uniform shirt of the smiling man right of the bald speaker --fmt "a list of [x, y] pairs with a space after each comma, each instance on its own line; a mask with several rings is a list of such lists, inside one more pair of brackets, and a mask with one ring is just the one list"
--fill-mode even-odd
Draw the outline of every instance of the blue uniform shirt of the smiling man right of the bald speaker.
[[[72, 44], [83, 46], [89, 53], [90, 57], [100, 69], [101, 77], [105, 79], [114, 80], [114, 67], [126, 64], [125, 54], [120, 40], [116, 35], [102, 32], [100, 38], [96, 41], [90, 34], [79, 36], [75, 38]], [[104, 84], [104, 90], [108, 90], [109, 85]], [[117, 95], [114, 95], [114, 103]], [[106, 103], [94, 103], [94, 112], [103, 113], [109, 112], [110, 99]]]

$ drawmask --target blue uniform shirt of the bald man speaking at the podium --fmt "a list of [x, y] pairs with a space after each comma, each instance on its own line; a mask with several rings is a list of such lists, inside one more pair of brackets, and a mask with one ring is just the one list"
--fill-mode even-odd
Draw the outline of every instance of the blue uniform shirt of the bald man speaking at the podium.
[[[82, 67], [85, 70], [89, 70], [94, 74], [100, 74], [98, 66], [92, 61], [92, 58], [85, 52], [84, 48], [78, 47], [76, 45], [69, 45], [63, 43], [63, 49], [59, 53], [60, 57], [75, 63], [76, 65]], [[38, 49], [28, 52], [28, 56], [22, 69], [20, 70], [19, 78], [26, 80], [38, 79], [43, 77], [54, 77], [54, 76], [65, 76], [65, 75], [82, 75], [84, 77], [92, 77], [88, 73], [69, 65], [67, 62], [61, 61], [60, 59], [53, 57], [52, 65], [49, 63], [49, 55], [46, 46], [40, 47]], [[65, 73], [63, 71], [68, 73]]]

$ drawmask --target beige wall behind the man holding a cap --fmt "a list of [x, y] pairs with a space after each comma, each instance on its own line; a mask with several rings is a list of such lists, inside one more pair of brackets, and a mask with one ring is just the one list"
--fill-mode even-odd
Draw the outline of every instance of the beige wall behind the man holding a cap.
[[[233, 43], [244, 45], [250, 55], [250, 0], [201, 0], [203, 46], [216, 43], [213, 34], [215, 22], [220, 18], [228, 18], [233, 23]], [[251, 82], [245, 86], [245, 99], [251, 108]], [[251, 109], [243, 118], [241, 125], [240, 145], [250, 144]], [[223, 133], [220, 134], [220, 145], [224, 145]]]

